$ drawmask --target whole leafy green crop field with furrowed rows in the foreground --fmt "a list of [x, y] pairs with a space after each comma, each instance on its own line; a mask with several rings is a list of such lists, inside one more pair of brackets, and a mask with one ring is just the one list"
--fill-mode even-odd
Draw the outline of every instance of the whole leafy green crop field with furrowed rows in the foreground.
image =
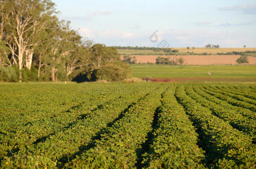
[[256, 168], [256, 85], [0, 83], [2, 168]]

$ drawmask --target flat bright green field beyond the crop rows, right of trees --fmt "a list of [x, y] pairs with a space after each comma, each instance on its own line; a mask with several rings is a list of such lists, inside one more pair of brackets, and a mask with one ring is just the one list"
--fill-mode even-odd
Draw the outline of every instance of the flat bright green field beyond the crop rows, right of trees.
[[[256, 66], [165, 66], [165, 65], [131, 65], [133, 77], [144, 78], [201, 78], [210, 81], [248, 81], [256, 82]], [[208, 73], [212, 74], [211, 76]], [[233, 79], [233, 80], [232, 80]], [[193, 80], [193, 79], [192, 79]]]

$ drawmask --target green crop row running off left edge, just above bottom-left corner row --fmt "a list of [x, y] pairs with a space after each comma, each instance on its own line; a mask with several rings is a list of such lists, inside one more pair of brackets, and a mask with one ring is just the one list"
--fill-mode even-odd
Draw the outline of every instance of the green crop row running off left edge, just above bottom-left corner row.
[[[116, 97], [114, 95], [102, 95], [94, 98], [84, 98], [83, 103], [68, 108], [66, 111], [62, 111], [57, 106], [59, 109], [55, 111], [42, 112], [44, 117], [41, 116], [41, 119], [35, 119], [34, 121], [29, 121], [30, 118], [27, 118], [27, 120], [2, 121], [1, 131], [4, 133], [0, 140], [2, 158], [6, 155], [14, 155], [17, 151], [23, 150], [24, 146], [37, 144], [37, 142], [65, 130], [67, 126], [76, 124], [77, 121], [83, 119], [87, 111], [97, 108], [97, 105], [105, 100], [112, 100]], [[48, 107], [45, 106], [45, 108], [47, 109]], [[37, 115], [34, 111], [27, 111], [23, 116], [26, 118], [31, 116], [31, 114], [40, 116], [40, 114]]]

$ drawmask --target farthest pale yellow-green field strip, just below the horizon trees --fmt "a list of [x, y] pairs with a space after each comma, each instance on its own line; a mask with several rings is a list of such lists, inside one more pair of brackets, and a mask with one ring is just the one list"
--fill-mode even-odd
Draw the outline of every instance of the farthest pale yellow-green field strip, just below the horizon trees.
[[[245, 51], [253, 51], [256, 50], [256, 48], [195, 48], [193, 49], [190, 47], [187, 48], [172, 48], [172, 49], [178, 49], [178, 54], [185, 54], [187, 52], [191, 53], [211, 53], [212, 55], [216, 55], [217, 53], [227, 53], [227, 52], [245, 52]], [[133, 49], [118, 49], [118, 53], [125, 54], [125, 55], [131, 55], [131, 54], [165, 54], [162, 51], [157, 52], [154, 50], [133, 50]]]

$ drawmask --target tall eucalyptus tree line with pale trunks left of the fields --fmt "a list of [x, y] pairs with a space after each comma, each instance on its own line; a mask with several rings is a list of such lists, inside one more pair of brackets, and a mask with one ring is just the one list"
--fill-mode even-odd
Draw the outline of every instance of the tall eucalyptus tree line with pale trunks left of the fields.
[[[50, 0], [0, 0], [2, 81], [10, 74], [18, 81], [26, 81], [26, 76], [30, 81], [112, 81], [131, 76], [116, 48], [84, 40], [57, 14]], [[111, 78], [113, 71], [123, 74], [114, 72], [116, 77]]]

